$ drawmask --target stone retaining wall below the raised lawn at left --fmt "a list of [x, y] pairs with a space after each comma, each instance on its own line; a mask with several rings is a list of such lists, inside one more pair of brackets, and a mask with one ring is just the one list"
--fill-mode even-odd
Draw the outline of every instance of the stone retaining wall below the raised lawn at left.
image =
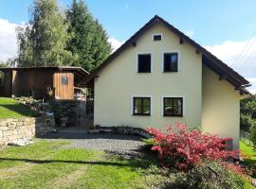
[[55, 129], [53, 116], [0, 119], [0, 146], [16, 140], [31, 140]]

